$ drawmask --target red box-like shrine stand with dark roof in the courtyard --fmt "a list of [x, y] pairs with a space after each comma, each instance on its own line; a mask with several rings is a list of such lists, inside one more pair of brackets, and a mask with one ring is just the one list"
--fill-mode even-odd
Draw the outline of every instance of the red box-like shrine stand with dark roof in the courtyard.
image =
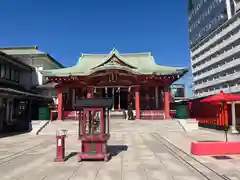
[[109, 109], [112, 103], [113, 100], [110, 98], [84, 99], [76, 102], [75, 109], [79, 114], [79, 139], [81, 140], [79, 161], [109, 160], [107, 141], [110, 138]]

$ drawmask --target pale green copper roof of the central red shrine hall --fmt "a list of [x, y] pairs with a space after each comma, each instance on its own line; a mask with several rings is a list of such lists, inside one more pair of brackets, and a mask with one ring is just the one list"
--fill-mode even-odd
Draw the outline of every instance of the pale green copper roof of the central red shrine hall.
[[[126, 66], [111, 61], [113, 57], [119, 59]], [[160, 66], [155, 63], [151, 53], [120, 54], [116, 49], [113, 49], [109, 54], [82, 54], [75, 66], [43, 70], [42, 74], [44, 76], [87, 76], [105, 69], [122, 69], [134, 74], [146, 75], [183, 75], [188, 71], [187, 68]]]

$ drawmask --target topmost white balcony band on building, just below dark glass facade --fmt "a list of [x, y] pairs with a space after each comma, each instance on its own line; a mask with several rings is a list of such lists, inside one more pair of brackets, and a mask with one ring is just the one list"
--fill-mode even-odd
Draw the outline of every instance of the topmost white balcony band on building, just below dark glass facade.
[[[240, 24], [240, 18], [237, 18], [237, 20], [230, 24], [227, 28], [223, 29], [220, 33], [216, 34], [212, 39], [208, 40], [205, 44], [203, 44], [202, 46], [200, 46], [198, 49], [196, 49], [195, 51], [193, 51], [191, 53], [191, 56], [195, 56], [196, 54], [198, 54], [199, 52], [201, 52], [203, 49], [207, 48], [208, 46], [210, 46], [211, 44], [213, 44], [215, 41], [217, 41], [219, 38], [225, 36], [228, 32], [232, 31], [233, 29], [235, 29], [238, 25]], [[215, 33], [215, 32], [213, 32]]]

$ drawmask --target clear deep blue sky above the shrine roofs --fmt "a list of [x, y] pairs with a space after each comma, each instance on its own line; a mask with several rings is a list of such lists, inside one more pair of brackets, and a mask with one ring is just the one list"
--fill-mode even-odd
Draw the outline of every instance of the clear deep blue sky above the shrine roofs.
[[0, 46], [38, 45], [66, 66], [82, 52], [115, 47], [120, 53], [150, 51], [161, 65], [189, 67], [187, 2], [2, 0]]

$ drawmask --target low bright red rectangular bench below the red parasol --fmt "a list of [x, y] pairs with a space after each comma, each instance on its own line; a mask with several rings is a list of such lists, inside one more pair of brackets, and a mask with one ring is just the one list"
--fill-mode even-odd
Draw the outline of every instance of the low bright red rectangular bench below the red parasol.
[[193, 155], [240, 154], [240, 142], [192, 142]]

